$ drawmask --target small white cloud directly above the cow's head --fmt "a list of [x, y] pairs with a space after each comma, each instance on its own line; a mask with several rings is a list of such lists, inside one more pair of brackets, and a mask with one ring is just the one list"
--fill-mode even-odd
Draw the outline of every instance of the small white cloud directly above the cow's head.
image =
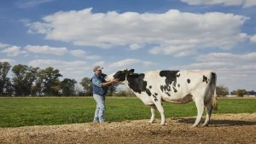
[[110, 67], [125, 67], [125, 66], [151, 66], [154, 65], [154, 62], [151, 61], [143, 61], [137, 59], [125, 59], [119, 60], [117, 62], [113, 62]]

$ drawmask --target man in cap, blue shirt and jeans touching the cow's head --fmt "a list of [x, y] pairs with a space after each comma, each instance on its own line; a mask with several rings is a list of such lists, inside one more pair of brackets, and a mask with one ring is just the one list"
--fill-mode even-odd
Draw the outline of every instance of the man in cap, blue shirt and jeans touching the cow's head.
[[102, 73], [102, 66], [95, 66], [93, 72], [94, 76], [91, 78], [93, 98], [96, 101], [96, 111], [93, 119], [94, 123], [104, 123], [105, 122], [105, 96], [108, 92], [108, 86], [116, 84], [118, 79], [113, 79], [112, 81], [106, 82], [106, 74]]

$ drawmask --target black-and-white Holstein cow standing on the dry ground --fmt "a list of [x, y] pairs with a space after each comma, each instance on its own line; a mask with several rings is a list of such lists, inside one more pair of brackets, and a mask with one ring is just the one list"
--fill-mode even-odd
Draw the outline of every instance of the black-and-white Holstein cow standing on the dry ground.
[[[119, 71], [113, 74], [128, 86], [145, 105], [151, 106], [151, 118], [154, 121], [154, 112], [160, 112], [161, 122], [165, 124], [162, 101], [187, 103], [195, 101], [197, 118], [192, 127], [200, 121], [204, 108], [207, 109], [207, 118], [203, 126], [209, 124], [212, 108], [218, 107], [216, 97], [216, 74], [211, 71], [153, 71], [134, 73], [134, 69]], [[214, 96], [213, 96], [214, 95]]]

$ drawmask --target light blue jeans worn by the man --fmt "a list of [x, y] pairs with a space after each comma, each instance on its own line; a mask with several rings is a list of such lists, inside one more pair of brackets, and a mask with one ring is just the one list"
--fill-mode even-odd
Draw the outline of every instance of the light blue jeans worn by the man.
[[93, 98], [96, 101], [96, 111], [94, 114], [94, 123], [104, 123], [105, 122], [105, 95], [93, 94]]

